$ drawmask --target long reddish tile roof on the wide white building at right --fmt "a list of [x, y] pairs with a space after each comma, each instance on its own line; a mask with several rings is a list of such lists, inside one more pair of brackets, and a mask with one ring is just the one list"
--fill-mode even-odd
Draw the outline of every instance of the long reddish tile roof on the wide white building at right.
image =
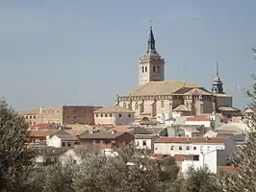
[[161, 137], [155, 143], [224, 143], [227, 138], [224, 137]]

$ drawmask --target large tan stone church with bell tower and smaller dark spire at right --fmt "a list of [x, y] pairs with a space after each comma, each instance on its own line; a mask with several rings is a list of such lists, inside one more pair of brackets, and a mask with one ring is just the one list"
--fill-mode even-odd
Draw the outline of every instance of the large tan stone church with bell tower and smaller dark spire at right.
[[184, 115], [210, 114], [219, 107], [232, 107], [232, 96], [223, 92], [218, 77], [212, 91], [186, 81], [165, 81], [166, 60], [157, 52], [150, 27], [147, 51], [139, 61], [139, 86], [117, 95], [116, 106], [135, 111], [136, 121], [156, 121], [157, 116], [180, 112]]

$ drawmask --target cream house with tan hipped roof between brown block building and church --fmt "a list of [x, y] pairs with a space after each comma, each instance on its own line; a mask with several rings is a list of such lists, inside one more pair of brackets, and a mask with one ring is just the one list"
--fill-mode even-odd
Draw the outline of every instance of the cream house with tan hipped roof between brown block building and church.
[[94, 111], [95, 124], [129, 125], [135, 121], [134, 111], [123, 107], [103, 107]]

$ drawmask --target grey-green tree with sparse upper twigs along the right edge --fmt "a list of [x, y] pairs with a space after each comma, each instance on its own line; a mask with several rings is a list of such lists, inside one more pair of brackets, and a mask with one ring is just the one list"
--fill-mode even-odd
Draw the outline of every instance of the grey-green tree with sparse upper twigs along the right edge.
[[[255, 50], [253, 51], [255, 54]], [[254, 82], [247, 90], [247, 95], [252, 100], [250, 107], [256, 108], [256, 76], [254, 74], [251, 76]], [[246, 116], [245, 123], [249, 127], [249, 131], [245, 132], [247, 139], [238, 147], [234, 160], [238, 173], [222, 177], [220, 184], [223, 191], [256, 191], [256, 113]]]

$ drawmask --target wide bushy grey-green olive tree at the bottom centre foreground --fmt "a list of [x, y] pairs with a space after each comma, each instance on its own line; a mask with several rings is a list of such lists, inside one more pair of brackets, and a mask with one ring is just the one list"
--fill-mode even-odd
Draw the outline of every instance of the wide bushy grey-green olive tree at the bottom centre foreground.
[[88, 155], [80, 165], [79, 192], [151, 191], [160, 181], [159, 166], [143, 150], [116, 149], [118, 156]]

